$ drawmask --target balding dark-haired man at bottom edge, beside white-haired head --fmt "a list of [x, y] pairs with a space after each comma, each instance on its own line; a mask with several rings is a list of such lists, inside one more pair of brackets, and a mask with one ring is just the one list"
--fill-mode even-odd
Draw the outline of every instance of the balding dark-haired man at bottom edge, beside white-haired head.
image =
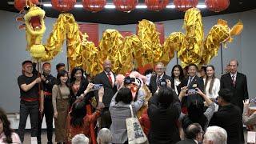
[[198, 144], [202, 142], [202, 127], [198, 123], [193, 123], [185, 130], [185, 139], [176, 144]]

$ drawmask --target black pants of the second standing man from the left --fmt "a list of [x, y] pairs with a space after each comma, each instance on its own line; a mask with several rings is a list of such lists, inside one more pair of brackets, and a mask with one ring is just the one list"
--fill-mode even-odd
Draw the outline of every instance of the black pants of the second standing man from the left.
[[44, 110], [42, 114], [38, 114], [38, 142], [41, 142], [41, 130], [42, 130], [42, 118], [46, 116], [46, 127], [47, 127], [47, 139], [48, 142], [52, 142], [53, 138], [53, 118], [54, 118], [54, 107], [51, 96], [46, 96], [44, 100]]

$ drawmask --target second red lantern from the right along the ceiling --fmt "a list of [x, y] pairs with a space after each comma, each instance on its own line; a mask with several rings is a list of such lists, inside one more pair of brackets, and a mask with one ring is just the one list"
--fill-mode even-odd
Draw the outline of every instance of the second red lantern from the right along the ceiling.
[[198, 6], [198, 0], [174, 0], [174, 6], [179, 11], [186, 11]]

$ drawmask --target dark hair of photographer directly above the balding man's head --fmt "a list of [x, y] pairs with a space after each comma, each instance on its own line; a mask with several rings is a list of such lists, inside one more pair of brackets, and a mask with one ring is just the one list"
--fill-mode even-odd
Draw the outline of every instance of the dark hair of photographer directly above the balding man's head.
[[191, 123], [197, 122], [202, 127], [206, 126], [206, 122], [208, 121], [206, 116], [203, 114], [203, 102], [191, 102], [190, 106], [187, 107], [188, 114], [182, 121], [182, 128], [186, 130], [186, 127]]

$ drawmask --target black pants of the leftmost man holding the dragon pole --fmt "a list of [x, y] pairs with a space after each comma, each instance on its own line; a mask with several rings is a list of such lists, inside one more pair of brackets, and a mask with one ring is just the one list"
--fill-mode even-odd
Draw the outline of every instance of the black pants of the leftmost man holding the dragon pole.
[[30, 125], [31, 125], [31, 137], [37, 137], [38, 135], [38, 113], [39, 113], [39, 106], [37, 104], [33, 105], [26, 105], [21, 102], [20, 105], [20, 118], [19, 118], [19, 125], [18, 125], [18, 136], [23, 142], [25, 128], [26, 128], [26, 119], [27, 116], [30, 114]]

